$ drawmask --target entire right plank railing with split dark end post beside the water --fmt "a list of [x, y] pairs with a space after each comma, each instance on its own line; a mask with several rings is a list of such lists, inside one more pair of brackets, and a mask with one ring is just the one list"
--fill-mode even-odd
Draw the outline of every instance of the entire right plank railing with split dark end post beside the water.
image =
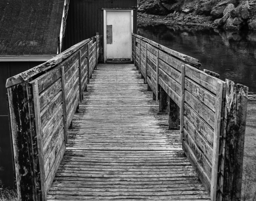
[[135, 34], [132, 58], [211, 200], [240, 200], [248, 87]]

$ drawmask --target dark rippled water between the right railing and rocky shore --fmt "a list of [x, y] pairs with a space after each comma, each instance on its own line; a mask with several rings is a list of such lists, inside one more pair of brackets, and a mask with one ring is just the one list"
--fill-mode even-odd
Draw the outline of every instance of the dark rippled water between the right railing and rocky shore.
[[199, 59], [201, 69], [249, 87], [256, 99], [256, 33], [225, 33], [203, 26], [147, 25], [138, 34], [175, 51]]

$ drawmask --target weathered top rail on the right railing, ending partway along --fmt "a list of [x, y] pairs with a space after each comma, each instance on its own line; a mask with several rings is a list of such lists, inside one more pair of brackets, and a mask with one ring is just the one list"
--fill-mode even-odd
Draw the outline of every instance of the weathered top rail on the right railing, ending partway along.
[[174, 56], [174, 57], [176, 57], [178, 59], [181, 59], [183, 61], [192, 63], [194, 65], [201, 66], [201, 64], [199, 63], [199, 60], [196, 59], [196, 58], [193, 58], [193, 57], [190, 57], [188, 55], [182, 54], [182, 53], [177, 52], [175, 50], [171, 50], [171, 49], [169, 49], [169, 48], [167, 48], [167, 47], [165, 47], [163, 45], [160, 45], [160, 44], [158, 44], [158, 43], [156, 43], [154, 41], [151, 41], [151, 40], [149, 40], [147, 38], [144, 38], [144, 37], [142, 37], [140, 35], [137, 35], [137, 34], [132, 34], [132, 35], [137, 37], [137, 38], [139, 38], [139, 39], [141, 39], [141, 40], [143, 40], [143, 41], [145, 41], [145, 42], [147, 42], [147, 43], [149, 43], [150, 45], [152, 45], [152, 46], [154, 46], [156, 48], [159, 48], [159, 49], [163, 50], [164, 52], [170, 54], [171, 56]]

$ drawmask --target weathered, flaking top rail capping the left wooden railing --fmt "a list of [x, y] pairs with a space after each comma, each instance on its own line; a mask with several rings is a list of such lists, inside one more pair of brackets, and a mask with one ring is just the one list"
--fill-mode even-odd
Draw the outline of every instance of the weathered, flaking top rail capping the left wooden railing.
[[19, 84], [21, 82], [25, 82], [25, 81], [30, 81], [29, 79], [38, 75], [39, 73], [46, 71], [54, 66], [56, 66], [57, 64], [59, 64], [60, 62], [62, 62], [63, 60], [65, 60], [66, 58], [68, 58], [70, 55], [72, 55], [75, 51], [77, 51], [79, 48], [81, 48], [82, 46], [84, 46], [85, 44], [87, 44], [89, 41], [91, 41], [92, 39], [86, 39], [78, 44], [73, 45], [72, 47], [70, 47], [69, 49], [63, 51], [62, 53], [56, 55], [55, 57], [53, 57], [52, 59], [46, 61], [43, 64], [40, 64], [34, 68], [31, 68], [27, 71], [24, 71], [22, 73], [19, 73], [17, 75], [14, 75], [10, 78], [7, 79], [6, 81], [6, 88], [9, 88], [13, 85]]

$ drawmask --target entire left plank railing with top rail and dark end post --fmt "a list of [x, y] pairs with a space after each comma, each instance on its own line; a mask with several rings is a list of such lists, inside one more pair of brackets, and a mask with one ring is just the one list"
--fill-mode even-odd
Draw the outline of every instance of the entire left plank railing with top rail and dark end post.
[[97, 35], [7, 79], [19, 200], [46, 200], [99, 48]]

